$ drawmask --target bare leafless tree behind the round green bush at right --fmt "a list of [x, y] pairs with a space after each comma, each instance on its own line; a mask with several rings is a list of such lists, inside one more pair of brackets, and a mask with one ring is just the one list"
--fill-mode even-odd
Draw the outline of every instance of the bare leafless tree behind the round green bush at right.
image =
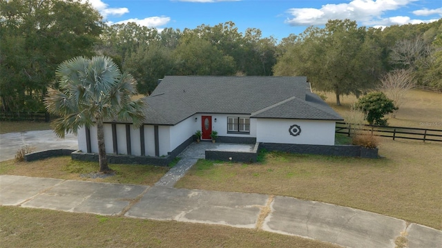
[[[392, 70], [381, 78], [381, 90], [393, 100], [397, 108], [403, 104], [407, 90], [413, 88], [414, 85], [414, 76], [410, 69]], [[392, 113], [393, 118], [396, 118], [397, 111]]]

